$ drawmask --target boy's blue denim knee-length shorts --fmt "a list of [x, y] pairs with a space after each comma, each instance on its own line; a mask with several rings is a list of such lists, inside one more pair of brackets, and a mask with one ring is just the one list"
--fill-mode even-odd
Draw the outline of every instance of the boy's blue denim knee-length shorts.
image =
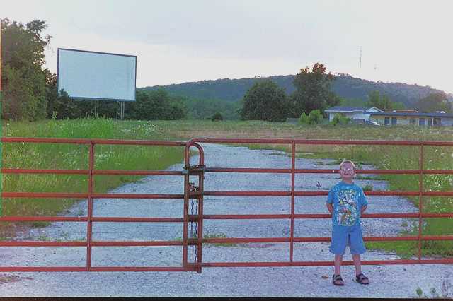
[[336, 226], [332, 230], [332, 241], [329, 251], [336, 255], [345, 254], [346, 246], [349, 246], [352, 255], [363, 254], [367, 251], [362, 239], [360, 225], [352, 227]]

